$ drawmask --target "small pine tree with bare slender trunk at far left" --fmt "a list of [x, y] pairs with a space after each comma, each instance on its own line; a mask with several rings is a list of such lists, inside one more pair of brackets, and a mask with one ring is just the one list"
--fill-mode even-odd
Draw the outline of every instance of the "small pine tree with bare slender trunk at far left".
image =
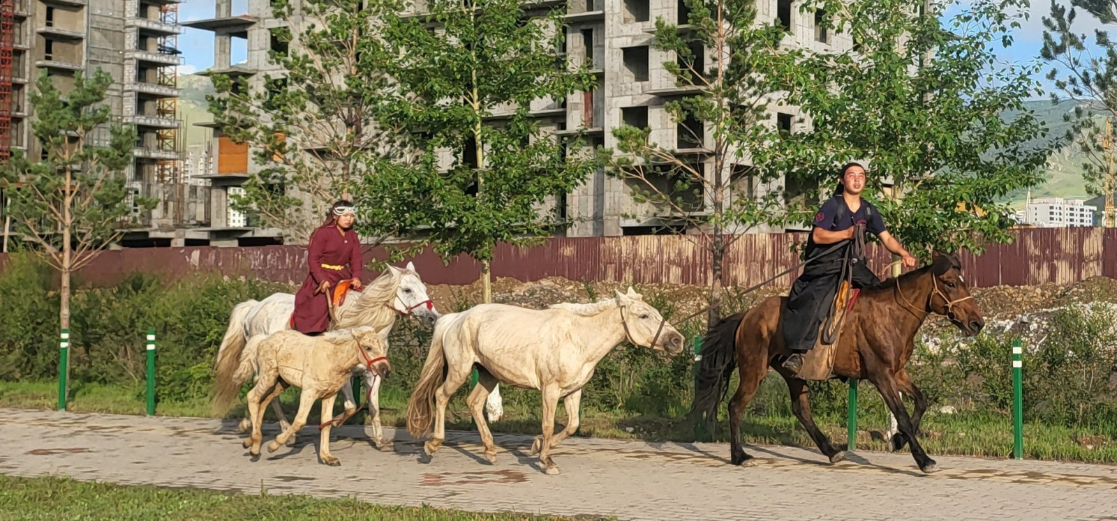
[[113, 122], [104, 103], [112, 83], [101, 69], [88, 77], [79, 73], [73, 90], [61, 93], [40, 76], [30, 94], [31, 132], [44, 154], [32, 160], [17, 152], [0, 170], [13, 232], [38, 245], [60, 274], [61, 329], [70, 327], [70, 276], [120, 239], [133, 208], [154, 208], [128, 196], [124, 173], [136, 133]]

